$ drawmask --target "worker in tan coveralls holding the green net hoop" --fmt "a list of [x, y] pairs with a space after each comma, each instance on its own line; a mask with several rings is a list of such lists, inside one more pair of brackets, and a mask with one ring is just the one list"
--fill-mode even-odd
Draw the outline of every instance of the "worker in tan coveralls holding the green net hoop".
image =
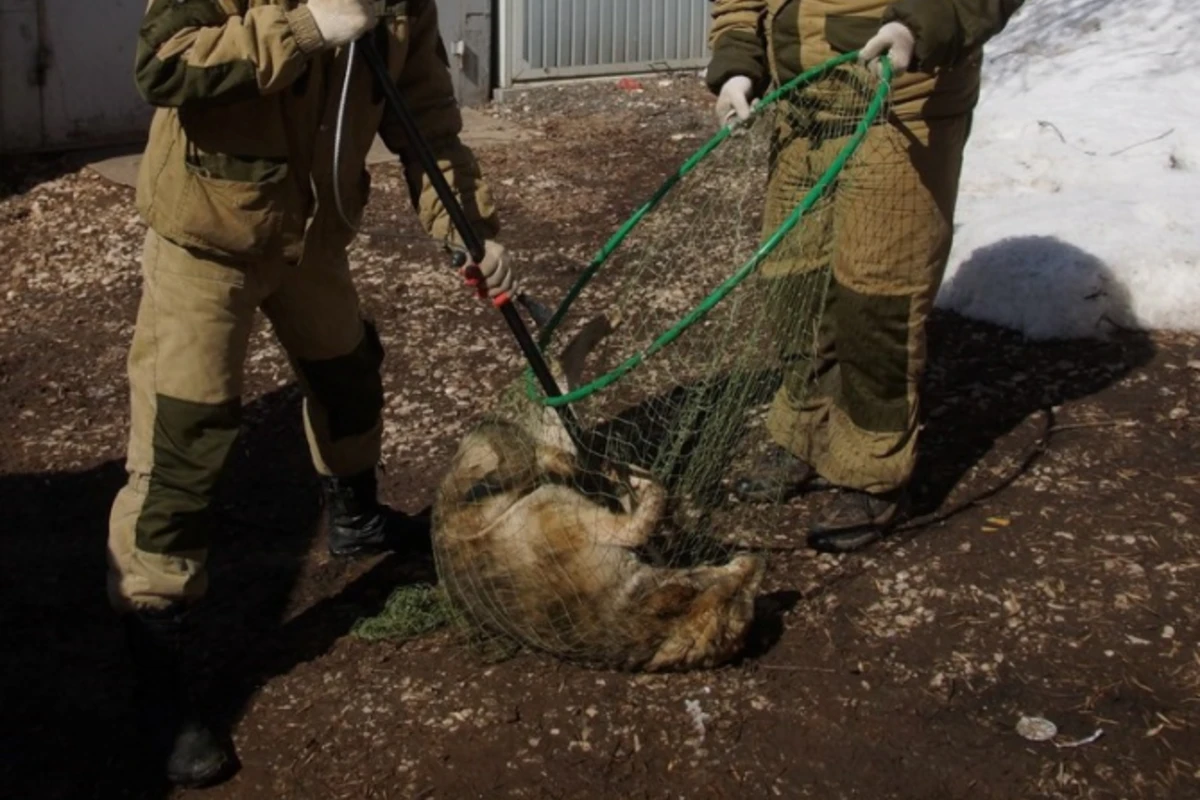
[[[817, 333], [776, 320], [797, 356], [768, 413], [772, 447], [734, 485], [749, 501], [782, 501], [821, 481], [840, 491], [809, 531], [823, 551], [863, 547], [907, 507], [917, 455], [925, 321], [950, 252], [962, 151], [979, 96], [983, 44], [1024, 0], [714, 0], [709, 89], [722, 122], [754, 98], [839, 53], [895, 70], [890, 113], [866, 136], [826, 211], [802, 222], [800, 253], [763, 266], [764, 281], [832, 267]], [[862, 70], [863, 67], [848, 67]], [[853, 82], [822, 82], [811, 124], [862, 109]], [[833, 95], [829, 92], [833, 91]], [[794, 110], [794, 109], [793, 109]], [[774, 230], [846, 144], [848, 128], [782, 121], [775, 130], [764, 230]], [[832, 261], [832, 263], [830, 263]], [[794, 299], [793, 299], [794, 300]], [[780, 303], [796, 308], [800, 303]], [[778, 312], [775, 312], [778, 313]], [[796, 312], [792, 312], [794, 315]], [[785, 353], [785, 356], [787, 353]]]

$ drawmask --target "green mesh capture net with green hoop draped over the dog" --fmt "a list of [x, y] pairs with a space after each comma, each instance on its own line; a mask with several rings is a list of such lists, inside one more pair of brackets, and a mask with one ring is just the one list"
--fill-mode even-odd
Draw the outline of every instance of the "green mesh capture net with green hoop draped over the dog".
[[[670, 616], [689, 591], [703, 589], [702, 579], [680, 583], [679, 575], [727, 564], [756, 517], [770, 513], [737, 503], [731, 481], [763, 450], [764, 410], [784, 375], [812, 383], [838, 242], [872, 233], [869, 215], [841, 215], [839, 205], [862, 193], [856, 182], [881, 160], [902, 157], [883, 154], [876, 143], [887, 115], [889, 67], [884, 61], [878, 79], [854, 56], [799, 76], [764, 97], [748, 122], [707, 142], [602, 246], [540, 329], [539, 345], [554, 360], [593, 320], [607, 317], [614, 324], [570, 391], [547, 398], [527, 371], [492, 417], [520, 427], [536, 416], [530, 409], [570, 405], [587, 431], [580, 461], [648, 473], [664, 487], [666, 509], [652, 540], [611, 548], [605, 557], [637, 564], [604, 563], [598, 570], [607, 571], [598, 577], [581, 573], [586, 565], [560, 545], [538, 541], [547, 535], [538, 519], [504, 535], [488, 523], [496, 541], [452, 546], [452, 539], [480, 531], [469, 529], [476, 517], [451, 519], [450, 511], [521, 481], [493, 475], [476, 485], [444, 483], [434, 512], [438, 576], [475, 642], [642, 666], [654, 637], [664, 634], [647, 616]], [[516, 439], [508, 446], [532, 447]], [[505, 458], [510, 467], [536, 471], [532, 450]], [[547, 482], [553, 483], [527, 481], [510, 500]], [[480, 492], [480, 485], [491, 488]], [[622, 510], [628, 489], [614, 486], [569, 488], [619, 516], [629, 511], [628, 500]], [[558, 515], [558, 525], [584, 536], [595, 525], [586, 515], [563, 519], [577, 509], [553, 504], [509, 513]], [[522, 570], [527, 575], [518, 575]], [[676, 606], [661, 593], [654, 600], [647, 585], [672, 576], [684, 587]], [[616, 590], [600, 590], [613, 582], [620, 584]], [[654, 606], [659, 601], [665, 604]], [[619, 607], [593, 607], [604, 603]], [[646, 652], [626, 657], [637, 648]]]

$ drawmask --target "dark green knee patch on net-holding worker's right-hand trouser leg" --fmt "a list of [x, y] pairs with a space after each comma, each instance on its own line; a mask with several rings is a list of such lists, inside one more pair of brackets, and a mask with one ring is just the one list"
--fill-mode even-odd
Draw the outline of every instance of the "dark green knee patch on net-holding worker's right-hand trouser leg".
[[841, 408], [876, 433], [908, 428], [908, 318], [912, 299], [865, 295], [838, 284]]

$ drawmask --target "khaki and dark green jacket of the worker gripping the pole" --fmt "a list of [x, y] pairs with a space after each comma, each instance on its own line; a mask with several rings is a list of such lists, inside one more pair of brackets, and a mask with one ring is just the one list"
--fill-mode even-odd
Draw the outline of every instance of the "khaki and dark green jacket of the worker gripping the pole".
[[[474, 155], [460, 140], [433, 0], [388, 0], [377, 42], [468, 216], [484, 236], [498, 223]], [[227, 259], [299, 258], [323, 217], [326, 245], [353, 233], [334, 211], [334, 181], [358, 224], [370, 191], [364, 167], [377, 133], [406, 166], [413, 205], [434, 237], [457, 241], [428, 179], [410, 158], [358, 54], [350, 76], [340, 173], [334, 137], [347, 48], [324, 47], [295, 0], [151, 0], [138, 35], [136, 79], [156, 106], [137, 207], [154, 230]], [[337, 222], [331, 219], [336, 218]]]

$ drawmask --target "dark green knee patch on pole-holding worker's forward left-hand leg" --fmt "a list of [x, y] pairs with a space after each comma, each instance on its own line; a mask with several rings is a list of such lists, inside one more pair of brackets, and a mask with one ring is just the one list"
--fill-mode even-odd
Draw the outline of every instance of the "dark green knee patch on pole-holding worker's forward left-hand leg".
[[212, 487], [240, 421], [240, 399], [192, 403], [158, 395], [154, 467], [136, 531], [139, 551], [170, 554], [208, 546]]

